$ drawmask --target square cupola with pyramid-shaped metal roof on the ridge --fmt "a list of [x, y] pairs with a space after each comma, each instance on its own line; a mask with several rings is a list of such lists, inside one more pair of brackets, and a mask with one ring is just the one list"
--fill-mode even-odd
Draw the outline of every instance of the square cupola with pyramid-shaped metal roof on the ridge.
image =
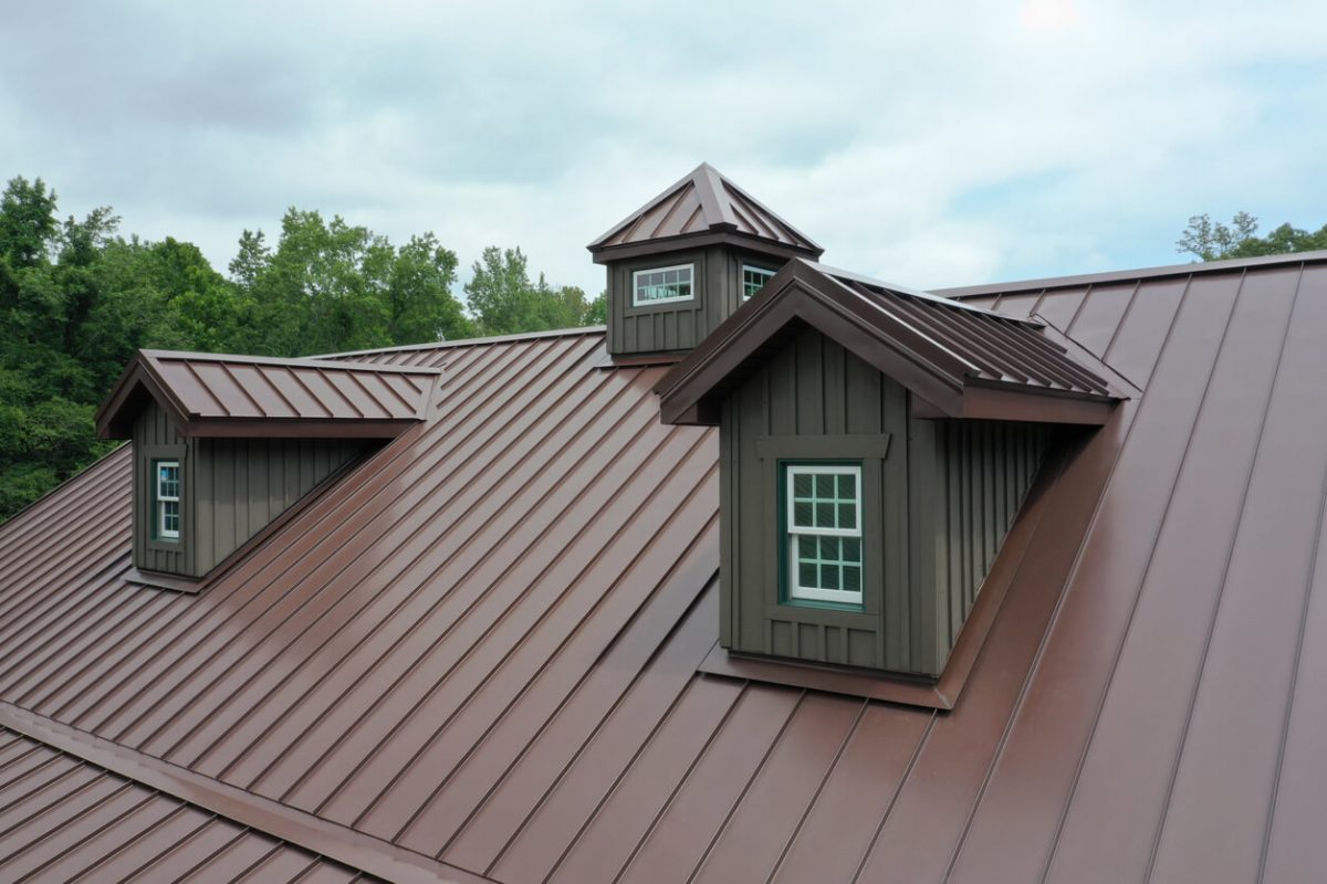
[[709, 163], [588, 248], [608, 268], [613, 357], [691, 350], [788, 260], [821, 253]]

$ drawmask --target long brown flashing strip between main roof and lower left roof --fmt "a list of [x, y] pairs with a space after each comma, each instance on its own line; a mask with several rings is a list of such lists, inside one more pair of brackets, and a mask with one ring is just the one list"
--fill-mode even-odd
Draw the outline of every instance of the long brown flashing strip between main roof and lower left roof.
[[301, 814], [277, 802], [169, 765], [68, 725], [0, 701], [0, 726], [74, 755], [135, 783], [249, 826], [272, 838], [402, 884], [483, 884], [480, 875]]

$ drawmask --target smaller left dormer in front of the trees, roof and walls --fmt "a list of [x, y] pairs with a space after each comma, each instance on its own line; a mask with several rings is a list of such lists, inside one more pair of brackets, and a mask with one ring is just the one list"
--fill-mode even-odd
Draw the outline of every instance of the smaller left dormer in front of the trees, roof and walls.
[[384, 440], [426, 417], [439, 371], [142, 350], [97, 412], [129, 439], [141, 583], [203, 580]]

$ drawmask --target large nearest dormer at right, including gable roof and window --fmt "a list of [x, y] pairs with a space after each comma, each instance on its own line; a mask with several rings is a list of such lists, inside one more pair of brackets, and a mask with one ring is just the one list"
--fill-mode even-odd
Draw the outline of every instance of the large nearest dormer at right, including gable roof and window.
[[1048, 452], [1121, 398], [1034, 321], [803, 260], [658, 391], [665, 423], [719, 427], [706, 668], [938, 708]]

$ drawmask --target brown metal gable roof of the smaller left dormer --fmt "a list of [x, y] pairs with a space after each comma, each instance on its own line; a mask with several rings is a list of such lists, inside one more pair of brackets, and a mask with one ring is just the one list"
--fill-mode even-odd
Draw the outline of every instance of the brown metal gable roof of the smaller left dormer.
[[184, 436], [390, 439], [425, 419], [438, 368], [139, 350], [97, 412], [129, 439], [146, 398]]

